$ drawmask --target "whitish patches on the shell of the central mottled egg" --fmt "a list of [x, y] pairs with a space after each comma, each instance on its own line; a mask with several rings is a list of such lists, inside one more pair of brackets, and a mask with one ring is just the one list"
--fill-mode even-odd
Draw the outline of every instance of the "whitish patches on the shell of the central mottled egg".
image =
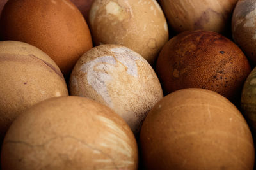
[[[115, 70], [115, 67], [118, 66], [118, 62], [120, 62], [123, 66], [127, 67], [127, 74], [138, 77], [136, 61], [147, 61], [143, 59], [143, 57], [140, 57], [138, 53], [129, 50], [129, 48], [111, 48], [111, 51], [116, 53], [115, 57], [98, 57], [97, 59], [83, 64], [80, 71], [87, 73], [88, 84], [102, 96], [110, 108], [113, 108], [107, 87], [107, 83], [112, 81], [112, 77], [108, 74], [108, 71]], [[97, 71], [94, 71], [94, 69], [97, 69]]]

